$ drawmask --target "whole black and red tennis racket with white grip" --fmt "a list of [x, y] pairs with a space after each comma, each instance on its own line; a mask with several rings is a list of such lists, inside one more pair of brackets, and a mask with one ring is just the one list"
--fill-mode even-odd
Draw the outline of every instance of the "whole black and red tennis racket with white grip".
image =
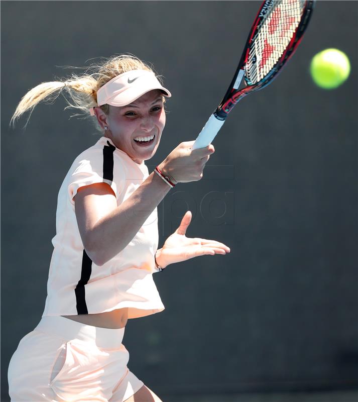
[[[225, 96], [196, 138], [192, 149], [211, 144], [227, 115], [251, 92], [277, 77], [300, 43], [315, 0], [266, 0], [251, 28], [240, 63]], [[238, 89], [244, 78], [245, 87]]]

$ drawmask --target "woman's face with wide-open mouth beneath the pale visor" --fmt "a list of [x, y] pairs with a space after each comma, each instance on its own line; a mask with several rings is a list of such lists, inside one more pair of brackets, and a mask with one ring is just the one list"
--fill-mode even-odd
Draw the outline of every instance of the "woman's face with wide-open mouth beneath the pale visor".
[[[156, 153], [165, 126], [165, 111], [160, 90], [151, 90], [127, 106], [109, 105], [109, 114], [103, 115], [103, 119], [98, 120], [102, 122], [102, 127], [103, 124], [108, 127], [104, 135], [136, 163], [141, 164]], [[135, 141], [135, 138], [138, 140], [140, 137], [144, 139], [153, 136], [154, 139], [148, 144]]]

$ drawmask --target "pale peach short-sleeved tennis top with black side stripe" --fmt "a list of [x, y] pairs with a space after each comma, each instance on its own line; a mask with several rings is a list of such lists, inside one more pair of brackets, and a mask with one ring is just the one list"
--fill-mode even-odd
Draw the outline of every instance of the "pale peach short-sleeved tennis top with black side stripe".
[[148, 175], [144, 163], [134, 162], [106, 137], [74, 160], [58, 194], [56, 236], [52, 239], [54, 250], [43, 317], [128, 307], [129, 318], [137, 318], [164, 310], [152, 277], [158, 272], [154, 262], [158, 248], [157, 208], [127, 247], [97, 266], [83, 248], [73, 201], [79, 187], [105, 182], [120, 205]]

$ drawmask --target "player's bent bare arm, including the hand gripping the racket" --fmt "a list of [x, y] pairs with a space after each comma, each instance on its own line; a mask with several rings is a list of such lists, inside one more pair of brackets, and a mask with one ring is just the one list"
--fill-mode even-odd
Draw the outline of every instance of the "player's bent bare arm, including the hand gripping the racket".
[[[191, 151], [194, 141], [179, 144], [159, 165], [177, 182], [200, 180], [214, 147]], [[152, 172], [120, 206], [111, 187], [95, 183], [80, 187], [74, 196], [78, 229], [84, 249], [96, 265], [103, 265], [135, 237], [150, 214], [169, 192], [169, 185]]]

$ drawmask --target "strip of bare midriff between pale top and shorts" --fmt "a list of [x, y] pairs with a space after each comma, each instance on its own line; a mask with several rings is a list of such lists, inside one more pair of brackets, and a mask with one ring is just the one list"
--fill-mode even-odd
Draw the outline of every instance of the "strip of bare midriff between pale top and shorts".
[[106, 313], [79, 314], [78, 316], [62, 316], [82, 324], [100, 328], [124, 328], [128, 321], [128, 308], [117, 309]]

